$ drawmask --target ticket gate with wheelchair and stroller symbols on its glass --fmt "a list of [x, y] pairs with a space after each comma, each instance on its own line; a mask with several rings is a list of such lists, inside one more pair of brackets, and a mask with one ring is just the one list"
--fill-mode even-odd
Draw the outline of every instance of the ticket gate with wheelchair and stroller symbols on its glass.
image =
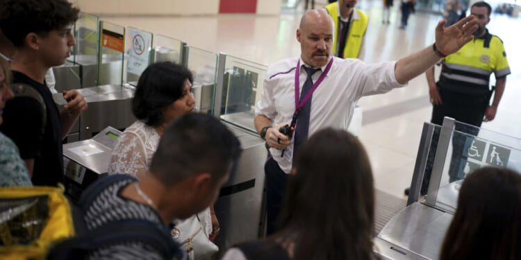
[[[461, 154], [455, 154], [457, 151]], [[442, 126], [424, 123], [408, 206], [392, 217], [374, 239], [376, 252], [381, 259], [439, 259], [465, 175], [483, 166], [520, 171], [520, 155], [521, 139], [448, 117]], [[428, 167], [430, 174], [427, 164], [432, 166]], [[449, 176], [454, 166], [452, 171], [458, 171], [457, 177]], [[424, 176], [429, 178], [429, 189], [425, 199], [418, 202]]]

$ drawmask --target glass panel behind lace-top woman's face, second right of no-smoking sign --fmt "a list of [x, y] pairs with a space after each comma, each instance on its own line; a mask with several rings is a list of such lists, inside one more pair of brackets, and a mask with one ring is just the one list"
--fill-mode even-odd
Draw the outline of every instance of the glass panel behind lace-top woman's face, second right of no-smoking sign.
[[194, 76], [192, 93], [195, 98], [195, 109], [206, 114], [213, 114], [217, 80], [217, 54], [188, 47], [188, 69], [192, 71]]

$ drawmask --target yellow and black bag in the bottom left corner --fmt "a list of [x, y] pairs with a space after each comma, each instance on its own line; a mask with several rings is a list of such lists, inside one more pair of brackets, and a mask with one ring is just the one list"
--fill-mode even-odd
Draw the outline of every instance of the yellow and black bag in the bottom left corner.
[[74, 236], [63, 187], [0, 188], [0, 259], [45, 259], [51, 245]]

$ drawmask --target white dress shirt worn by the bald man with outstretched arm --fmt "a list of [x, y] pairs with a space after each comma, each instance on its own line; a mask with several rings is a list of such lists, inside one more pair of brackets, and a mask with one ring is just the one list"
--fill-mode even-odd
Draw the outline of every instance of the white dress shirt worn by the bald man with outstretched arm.
[[[406, 86], [396, 81], [396, 62], [368, 64], [357, 59], [331, 57], [333, 58], [331, 69], [311, 99], [309, 136], [327, 127], [347, 130], [359, 98]], [[295, 68], [298, 60], [299, 58], [281, 60], [267, 69], [263, 94], [261, 101], [257, 103], [255, 114], [267, 116], [273, 126], [281, 123], [289, 124], [295, 112]], [[301, 58], [300, 64], [304, 66]], [[322, 67], [322, 71], [325, 68], [326, 66]], [[320, 78], [320, 75], [321, 71], [313, 74], [313, 83]], [[306, 77], [306, 71], [301, 68], [300, 89]], [[279, 163], [285, 173], [291, 171], [292, 150], [293, 139], [282, 157], [282, 150], [270, 148], [273, 159]]]

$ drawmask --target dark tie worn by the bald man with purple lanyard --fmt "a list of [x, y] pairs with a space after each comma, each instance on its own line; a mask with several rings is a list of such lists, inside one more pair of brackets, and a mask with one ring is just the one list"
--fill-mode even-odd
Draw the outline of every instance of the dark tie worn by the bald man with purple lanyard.
[[[304, 96], [308, 94], [311, 87], [313, 87], [313, 79], [311, 76], [320, 69], [313, 69], [309, 67], [305, 67], [306, 73], [308, 74], [308, 78], [306, 78], [306, 82], [302, 86], [302, 93], [300, 94], [300, 101], [304, 99]], [[295, 143], [293, 144], [293, 157], [297, 155], [297, 150], [299, 146], [306, 141], [308, 138], [308, 130], [309, 130], [309, 115], [311, 114], [311, 99], [313, 96], [310, 96], [308, 102], [302, 107], [302, 110], [299, 112], [299, 117], [297, 118], [297, 125], [295, 125]]]

